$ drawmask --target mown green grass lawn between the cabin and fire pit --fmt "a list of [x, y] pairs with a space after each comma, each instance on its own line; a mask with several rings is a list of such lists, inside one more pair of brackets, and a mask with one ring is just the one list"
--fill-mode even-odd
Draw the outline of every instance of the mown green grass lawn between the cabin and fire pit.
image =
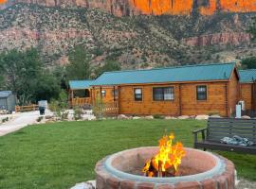
[[[94, 166], [106, 155], [137, 146], [157, 146], [165, 129], [192, 146], [194, 120], [60, 122], [30, 126], [0, 137], [0, 188], [59, 189], [94, 180]], [[222, 152], [240, 176], [256, 180], [256, 156]]]

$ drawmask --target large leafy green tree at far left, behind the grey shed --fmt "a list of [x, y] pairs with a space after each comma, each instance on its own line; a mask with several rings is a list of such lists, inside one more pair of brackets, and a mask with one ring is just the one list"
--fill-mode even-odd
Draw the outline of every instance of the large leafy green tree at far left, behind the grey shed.
[[[3, 82], [1, 89], [17, 95], [21, 105], [50, 99], [60, 91], [58, 82], [40, 60], [36, 49], [10, 50], [0, 55]], [[0, 83], [1, 84], [1, 83]]]

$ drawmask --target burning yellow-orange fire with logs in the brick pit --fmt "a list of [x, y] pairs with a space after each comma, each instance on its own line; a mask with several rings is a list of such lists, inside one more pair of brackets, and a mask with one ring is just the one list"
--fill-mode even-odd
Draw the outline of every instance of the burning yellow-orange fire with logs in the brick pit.
[[182, 143], [173, 145], [174, 134], [165, 135], [159, 140], [159, 152], [145, 163], [142, 172], [147, 177], [176, 176], [181, 159], [185, 156]]

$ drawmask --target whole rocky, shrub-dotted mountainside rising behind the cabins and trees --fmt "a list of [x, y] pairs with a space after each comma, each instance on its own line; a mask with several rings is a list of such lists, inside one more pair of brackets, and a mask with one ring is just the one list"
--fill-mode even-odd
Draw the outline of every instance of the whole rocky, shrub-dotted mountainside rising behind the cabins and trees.
[[[139, 4], [143, 1], [147, 11]], [[245, 3], [234, 9], [233, 4], [227, 7], [220, 0], [161, 1], [169, 2], [165, 8], [164, 3], [143, 1], [9, 1], [0, 10], [0, 51], [33, 46], [46, 64], [55, 65], [68, 63], [68, 51], [82, 44], [92, 54], [92, 64], [116, 60], [123, 68], [231, 61], [256, 55], [256, 44], [247, 33], [256, 15], [249, 12], [253, 6]], [[190, 9], [185, 11], [184, 5]]]

